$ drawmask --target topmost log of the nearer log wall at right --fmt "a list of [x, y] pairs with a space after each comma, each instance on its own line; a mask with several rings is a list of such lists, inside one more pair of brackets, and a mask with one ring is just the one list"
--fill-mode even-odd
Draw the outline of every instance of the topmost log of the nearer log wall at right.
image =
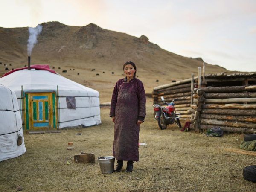
[[256, 85], [232, 86], [232, 87], [204, 87], [204, 88], [198, 88], [198, 89], [203, 90], [205, 93], [241, 92], [241, 91], [256, 90]]

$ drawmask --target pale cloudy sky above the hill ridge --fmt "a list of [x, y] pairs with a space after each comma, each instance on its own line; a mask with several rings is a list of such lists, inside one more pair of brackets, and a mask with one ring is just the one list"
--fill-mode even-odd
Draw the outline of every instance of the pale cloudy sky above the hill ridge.
[[0, 0], [0, 27], [48, 21], [145, 35], [178, 55], [256, 71], [256, 0]]

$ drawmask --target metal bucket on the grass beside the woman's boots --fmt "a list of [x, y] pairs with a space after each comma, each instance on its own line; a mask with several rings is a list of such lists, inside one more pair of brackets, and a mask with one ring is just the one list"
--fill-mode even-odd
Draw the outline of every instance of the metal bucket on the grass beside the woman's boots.
[[113, 156], [98, 157], [98, 161], [99, 161], [99, 166], [102, 173], [114, 172], [115, 157]]

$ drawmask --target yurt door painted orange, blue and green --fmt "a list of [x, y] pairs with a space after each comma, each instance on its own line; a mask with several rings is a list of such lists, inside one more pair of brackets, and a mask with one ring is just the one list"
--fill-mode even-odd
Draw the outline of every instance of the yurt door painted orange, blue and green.
[[56, 128], [55, 93], [26, 93], [26, 129]]

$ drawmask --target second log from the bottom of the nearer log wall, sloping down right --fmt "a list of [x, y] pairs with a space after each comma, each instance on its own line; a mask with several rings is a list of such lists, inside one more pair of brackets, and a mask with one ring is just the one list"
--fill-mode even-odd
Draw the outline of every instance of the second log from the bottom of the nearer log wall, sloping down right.
[[228, 127], [245, 127], [245, 128], [256, 128], [256, 123], [245, 123], [245, 122], [230, 122], [216, 119], [201, 119], [201, 124], [204, 125], [221, 125]]

